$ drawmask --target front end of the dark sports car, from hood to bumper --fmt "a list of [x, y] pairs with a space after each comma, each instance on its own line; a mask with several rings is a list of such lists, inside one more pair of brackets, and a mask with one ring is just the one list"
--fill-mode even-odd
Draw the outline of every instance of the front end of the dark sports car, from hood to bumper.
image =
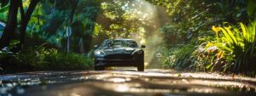
[[[124, 50], [124, 49], [121, 49]], [[128, 51], [117, 52], [116, 49], [110, 49], [107, 51], [96, 50], [95, 62], [96, 65], [103, 66], [137, 66], [137, 63], [143, 59], [143, 50], [131, 49]]]

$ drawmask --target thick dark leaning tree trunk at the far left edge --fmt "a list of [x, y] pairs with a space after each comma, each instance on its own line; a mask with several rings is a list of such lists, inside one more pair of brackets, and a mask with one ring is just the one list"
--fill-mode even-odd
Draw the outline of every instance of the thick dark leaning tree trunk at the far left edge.
[[17, 28], [17, 13], [19, 8], [18, 0], [10, 0], [9, 14], [6, 26], [3, 30], [3, 36], [0, 39], [0, 48], [7, 47], [11, 39], [14, 38]]

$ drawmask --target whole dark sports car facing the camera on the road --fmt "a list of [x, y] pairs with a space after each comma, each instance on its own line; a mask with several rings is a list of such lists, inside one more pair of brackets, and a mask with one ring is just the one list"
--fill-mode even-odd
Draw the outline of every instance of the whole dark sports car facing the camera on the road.
[[132, 39], [107, 39], [98, 47], [94, 46], [95, 70], [103, 71], [111, 66], [135, 66], [144, 71], [145, 45], [139, 47]]

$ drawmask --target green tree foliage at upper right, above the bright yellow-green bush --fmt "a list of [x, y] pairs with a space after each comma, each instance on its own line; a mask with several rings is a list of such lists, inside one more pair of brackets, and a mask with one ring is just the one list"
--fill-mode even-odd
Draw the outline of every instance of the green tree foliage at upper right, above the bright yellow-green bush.
[[[209, 36], [210, 25], [248, 23], [255, 17], [254, 0], [147, 0], [166, 8], [172, 21], [163, 26], [166, 42], [183, 42]], [[171, 27], [170, 27], [171, 26]], [[172, 33], [171, 33], [172, 32]], [[172, 41], [172, 39], [177, 41]]]

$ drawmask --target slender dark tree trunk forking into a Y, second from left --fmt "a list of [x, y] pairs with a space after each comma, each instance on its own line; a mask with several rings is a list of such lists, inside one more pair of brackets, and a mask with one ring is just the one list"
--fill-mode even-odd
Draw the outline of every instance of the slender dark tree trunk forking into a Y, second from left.
[[[23, 13], [23, 16], [21, 16], [21, 24], [20, 24], [20, 50], [23, 51], [25, 47], [25, 37], [26, 37], [26, 26], [31, 19], [32, 13], [34, 9], [37, 7], [40, 0], [32, 0], [29, 4], [29, 7], [26, 11], [26, 14]], [[23, 10], [22, 3], [20, 10]], [[22, 11], [21, 11], [22, 12]], [[22, 15], [22, 13], [21, 13]]]

